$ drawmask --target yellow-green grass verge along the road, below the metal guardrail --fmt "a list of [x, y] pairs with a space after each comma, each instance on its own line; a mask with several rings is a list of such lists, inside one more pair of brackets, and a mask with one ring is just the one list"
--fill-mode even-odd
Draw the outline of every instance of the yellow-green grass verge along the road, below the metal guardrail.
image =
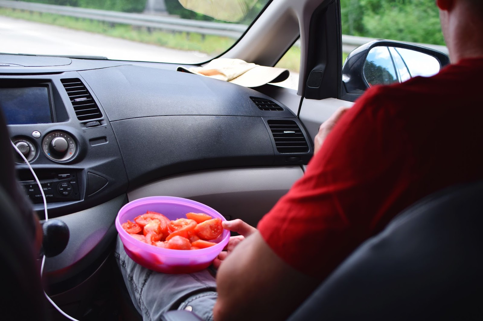
[[[0, 8], [0, 15], [75, 30], [99, 33], [110, 37], [149, 43], [173, 49], [199, 51], [211, 56], [217, 56], [224, 53], [235, 42], [235, 40], [227, 37], [201, 35], [199, 33], [149, 30], [144, 27], [112, 24], [53, 13], [39, 13], [10, 8]], [[346, 57], [347, 54], [344, 53], [342, 55], [342, 62]], [[298, 73], [300, 69], [300, 48], [295, 45], [292, 46], [275, 67], [286, 68]]]

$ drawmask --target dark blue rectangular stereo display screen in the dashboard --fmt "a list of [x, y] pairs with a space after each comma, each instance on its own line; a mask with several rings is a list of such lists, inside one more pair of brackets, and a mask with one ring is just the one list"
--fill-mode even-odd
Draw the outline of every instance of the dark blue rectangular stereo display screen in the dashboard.
[[8, 125], [52, 122], [47, 86], [0, 88], [0, 107]]

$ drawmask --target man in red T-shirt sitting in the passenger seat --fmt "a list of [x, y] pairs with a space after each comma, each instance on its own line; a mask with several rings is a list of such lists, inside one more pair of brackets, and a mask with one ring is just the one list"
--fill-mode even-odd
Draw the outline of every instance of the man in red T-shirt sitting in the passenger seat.
[[215, 262], [215, 321], [284, 320], [396, 214], [483, 178], [483, 2], [436, 4], [453, 64], [431, 78], [369, 89], [321, 127], [305, 175], [257, 229], [225, 223], [246, 239], [234, 239]]

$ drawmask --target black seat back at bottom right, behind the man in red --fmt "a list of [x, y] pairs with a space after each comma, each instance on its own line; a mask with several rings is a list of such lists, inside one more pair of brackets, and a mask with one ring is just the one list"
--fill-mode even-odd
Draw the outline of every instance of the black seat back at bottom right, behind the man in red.
[[351, 254], [289, 321], [483, 320], [483, 183], [399, 214]]

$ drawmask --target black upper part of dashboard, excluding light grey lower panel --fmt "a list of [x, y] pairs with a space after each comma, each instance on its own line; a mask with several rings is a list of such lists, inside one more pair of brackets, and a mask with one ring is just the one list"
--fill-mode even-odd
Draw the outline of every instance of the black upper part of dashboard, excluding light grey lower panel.
[[[306, 164], [313, 152], [289, 108], [256, 90], [208, 77], [108, 60], [0, 55], [0, 93], [33, 94], [32, 88], [46, 88], [51, 121], [45, 122], [44, 113], [38, 121], [33, 113], [8, 127], [39, 175], [50, 217], [117, 200], [115, 214], [129, 190], [162, 177]], [[19, 110], [45, 108], [45, 94], [35, 97]], [[6, 106], [6, 99], [0, 104]], [[20, 158], [17, 174], [42, 217], [40, 190]], [[113, 223], [105, 221], [110, 233], [85, 254], [96, 252], [108, 235], [112, 239]], [[92, 242], [90, 236], [73, 237], [77, 248]], [[85, 260], [81, 254], [72, 258], [70, 251], [47, 262], [47, 271]]]

